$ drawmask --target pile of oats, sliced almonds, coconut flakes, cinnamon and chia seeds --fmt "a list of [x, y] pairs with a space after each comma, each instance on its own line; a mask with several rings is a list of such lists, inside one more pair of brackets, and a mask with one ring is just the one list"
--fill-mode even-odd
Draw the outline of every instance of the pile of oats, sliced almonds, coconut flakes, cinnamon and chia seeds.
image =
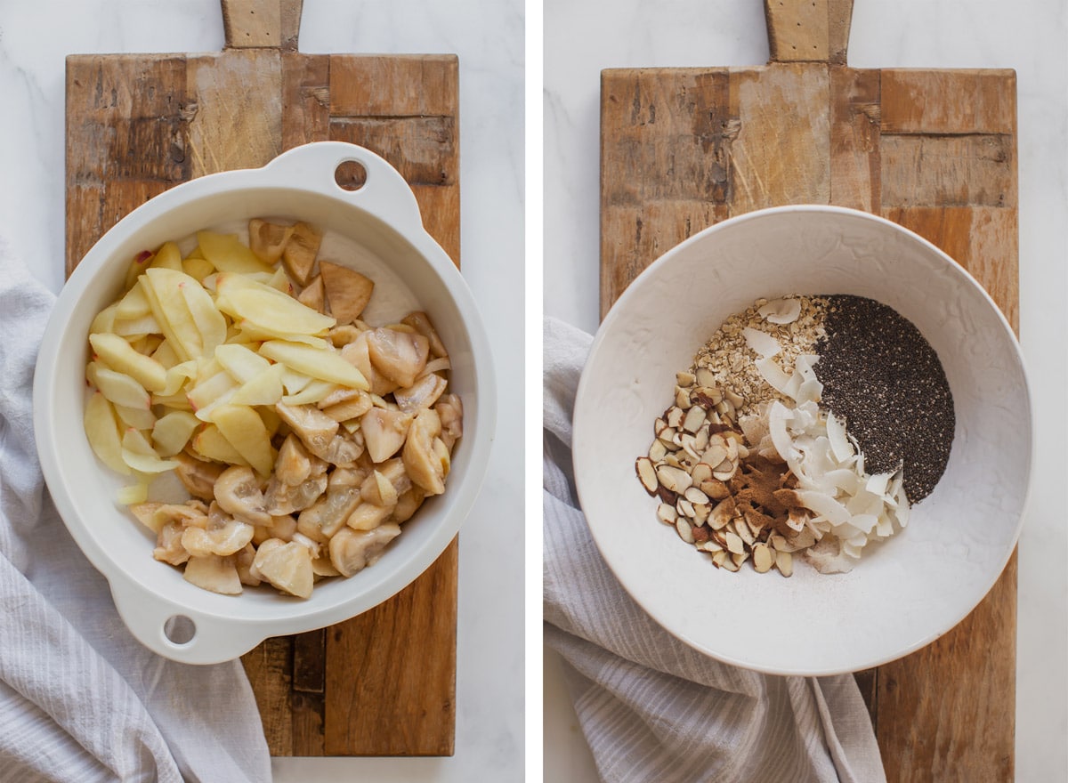
[[844, 573], [908, 524], [953, 442], [938, 356], [892, 308], [858, 296], [758, 299], [676, 375], [639, 480], [657, 517], [737, 571]]

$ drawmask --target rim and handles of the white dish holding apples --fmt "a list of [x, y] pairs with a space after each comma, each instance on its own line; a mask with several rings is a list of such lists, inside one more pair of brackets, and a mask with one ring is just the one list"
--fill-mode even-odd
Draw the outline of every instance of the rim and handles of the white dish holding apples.
[[[348, 160], [355, 160], [368, 170], [368, 184], [373, 175], [378, 177], [376, 184], [383, 184], [374, 189], [366, 188], [367, 192], [364, 192], [362, 189], [347, 191], [332, 177], [325, 186], [310, 184], [307, 177], [304, 182], [299, 177], [292, 183], [286, 181], [295, 170], [299, 174], [300, 169], [308, 165], [332, 162], [336, 167]], [[295, 195], [325, 197], [347, 209], [359, 210], [382, 223], [412, 248], [426, 265], [427, 273], [436, 276], [434, 285], [440, 283], [461, 315], [460, 328], [470, 342], [473, 359], [472, 394], [477, 397], [477, 404], [465, 409], [466, 424], [469, 423], [467, 418], [471, 417], [465, 435], [470, 429], [472, 437], [466, 440], [470, 456], [464, 482], [450, 486], [450, 491], [445, 494], [449, 507], [442, 511], [436, 526], [428, 529], [425, 538], [404, 564], [361, 593], [342, 594], [325, 604], [296, 605], [298, 609], [287, 611], [279, 618], [255, 618], [241, 615], [240, 601], [222, 605], [225, 608], [217, 612], [180, 605], [167, 594], [166, 585], [137, 579], [119, 558], [97, 544], [89, 533], [87, 515], [63, 480], [64, 458], [59, 442], [62, 434], [56, 432], [51, 424], [51, 410], [57, 404], [56, 381], [65, 353], [63, 338], [70, 327], [83, 283], [104, 268], [117, 266], [112, 259], [117, 246], [130, 235], [151, 228], [174, 210], [203, 198], [268, 189], [289, 190]], [[374, 202], [367, 201], [371, 197], [374, 197]], [[49, 315], [34, 371], [33, 424], [42, 471], [60, 517], [79, 549], [108, 580], [120, 615], [134, 636], [150, 648], [174, 660], [215, 663], [236, 658], [269, 636], [312, 630], [368, 611], [404, 590], [437, 561], [470, 514], [486, 477], [497, 426], [496, 376], [488, 336], [471, 291], [447, 253], [423, 228], [414, 193], [400, 174], [384, 159], [363, 147], [346, 142], [315, 142], [283, 153], [257, 169], [208, 174], [175, 185], [131, 210], [107, 231], [69, 276]], [[99, 469], [105, 468], [101, 466]], [[197, 633], [190, 642], [176, 644], [163, 633], [162, 621], [172, 614], [187, 615], [195, 623]]]

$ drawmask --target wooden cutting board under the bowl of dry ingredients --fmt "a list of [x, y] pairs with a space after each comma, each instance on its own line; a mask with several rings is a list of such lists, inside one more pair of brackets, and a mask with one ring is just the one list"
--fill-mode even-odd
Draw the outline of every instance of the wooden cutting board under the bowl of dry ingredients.
[[[846, 65], [851, 0], [766, 0], [765, 67], [601, 74], [601, 315], [661, 253], [794, 203], [923, 235], [1017, 312], [1016, 74]], [[1017, 559], [923, 649], [857, 675], [891, 783], [1011, 781]]]

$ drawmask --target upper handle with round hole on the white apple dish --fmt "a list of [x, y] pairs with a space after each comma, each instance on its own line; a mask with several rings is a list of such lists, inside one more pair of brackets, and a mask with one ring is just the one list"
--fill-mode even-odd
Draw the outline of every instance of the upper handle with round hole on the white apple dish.
[[[339, 184], [345, 173], [339, 170], [346, 163], [363, 169], [365, 176], [355, 189]], [[257, 174], [268, 187], [304, 188], [349, 201], [402, 233], [423, 231], [411, 187], [389, 162], [362, 146], [344, 141], [303, 144], [282, 153]]]

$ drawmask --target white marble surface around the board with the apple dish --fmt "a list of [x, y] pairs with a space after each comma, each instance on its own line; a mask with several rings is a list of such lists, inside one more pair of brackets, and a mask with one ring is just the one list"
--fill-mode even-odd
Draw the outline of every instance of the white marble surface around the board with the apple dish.
[[[64, 260], [64, 58], [222, 47], [218, 0], [0, 2], [0, 237], [53, 291]], [[490, 334], [498, 432], [460, 535], [456, 753], [287, 758], [278, 783], [518, 781], [523, 768], [523, 6], [519, 0], [304, 3], [309, 53], [459, 56], [464, 276]], [[3, 335], [7, 339], [12, 335]]]

